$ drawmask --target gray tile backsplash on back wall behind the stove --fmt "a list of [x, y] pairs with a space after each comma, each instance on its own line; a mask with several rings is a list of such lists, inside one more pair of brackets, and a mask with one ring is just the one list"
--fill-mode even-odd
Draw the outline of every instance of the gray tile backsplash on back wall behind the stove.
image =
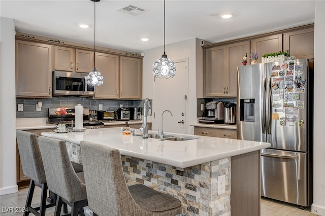
[[[38, 101], [43, 103], [40, 112], [36, 112], [36, 104]], [[23, 111], [17, 111], [18, 103], [23, 104]], [[89, 108], [89, 110], [98, 110], [99, 104], [103, 104], [104, 111], [116, 111], [120, 107], [120, 104], [123, 107], [143, 107], [144, 100], [95, 100], [86, 97], [16, 98], [16, 118], [48, 118], [49, 108], [74, 108], [77, 104], [81, 104]]]

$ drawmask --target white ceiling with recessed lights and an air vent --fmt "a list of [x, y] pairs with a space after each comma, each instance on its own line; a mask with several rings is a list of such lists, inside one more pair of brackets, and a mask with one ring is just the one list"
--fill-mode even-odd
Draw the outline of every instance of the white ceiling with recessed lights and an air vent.
[[[146, 9], [136, 16], [127, 5]], [[192, 38], [220, 42], [314, 22], [315, 1], [166, 0], [166, 44]], [[0, 0], [1, 16], [16, 31], [93, 45], [94, 3], [90, 0]], [[231, 12], [228, 20], [211, 14]], [[90, 27], [82, 29], [79, 24]], [[142, 42], [141, 38], [148, 38]], [[129, 52], [164, 45], [164, 1], [101, 0], [96, 3], [96, 46]]]

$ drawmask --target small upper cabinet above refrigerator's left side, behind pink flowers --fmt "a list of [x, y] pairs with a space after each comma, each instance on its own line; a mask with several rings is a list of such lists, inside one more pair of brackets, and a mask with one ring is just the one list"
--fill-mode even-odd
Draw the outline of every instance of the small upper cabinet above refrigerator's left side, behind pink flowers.
[[282, 41], [282, 33], [251, 40], [251, 50], [256, 51], [259, 55], [257, 63], [262, 62], [261, 56], [264, 54], [282, 51]]

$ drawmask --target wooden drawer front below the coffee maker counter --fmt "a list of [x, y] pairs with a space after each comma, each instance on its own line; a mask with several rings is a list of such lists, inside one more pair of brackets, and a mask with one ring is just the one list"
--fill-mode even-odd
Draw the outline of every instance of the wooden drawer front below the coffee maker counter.
[[237, 139], [237, 132], [233, 129], [194, 127], [194, 134], [200, 136], [213, 136], [220, 138]]

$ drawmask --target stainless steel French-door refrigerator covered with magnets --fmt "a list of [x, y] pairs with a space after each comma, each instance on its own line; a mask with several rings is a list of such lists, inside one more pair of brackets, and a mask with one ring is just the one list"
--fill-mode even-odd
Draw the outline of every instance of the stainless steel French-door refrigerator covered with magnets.
[[313, 64], [296, 59], [237, 67], [237, 138], [261, 150], [261, 195], [312, 203]]

